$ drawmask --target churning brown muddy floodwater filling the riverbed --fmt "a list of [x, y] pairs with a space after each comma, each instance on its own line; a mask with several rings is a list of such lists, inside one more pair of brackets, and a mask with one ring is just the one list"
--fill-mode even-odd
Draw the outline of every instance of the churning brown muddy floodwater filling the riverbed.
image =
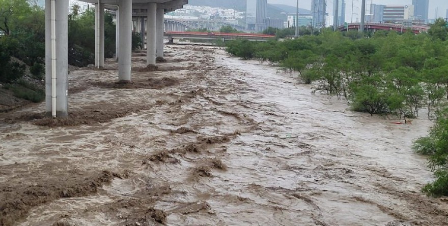
[[448, 225], [410, 149], [431, 121], [352, 112], [277, 68], [168, 46], [133, 83], [70, 77], [70, 119], [0, 114], [0, 225]]

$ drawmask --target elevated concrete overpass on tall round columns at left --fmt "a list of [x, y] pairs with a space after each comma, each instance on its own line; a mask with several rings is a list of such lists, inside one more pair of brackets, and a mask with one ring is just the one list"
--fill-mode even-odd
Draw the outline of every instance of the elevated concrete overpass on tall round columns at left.
[[[156, 57], [163, 56], [164, 14], [188, 4], [188, 0], [80, 1], [95, 4], [97, 69], [104, 67], [105, 9], [116, 12], [118, 80], [124, 82], [131, 81], [133, 14], [147, 18], [147, 64], [155, 65]], [[69, 0], [45, 0], [45, 112], [52, 117], [68, 116], [68, 3]]]

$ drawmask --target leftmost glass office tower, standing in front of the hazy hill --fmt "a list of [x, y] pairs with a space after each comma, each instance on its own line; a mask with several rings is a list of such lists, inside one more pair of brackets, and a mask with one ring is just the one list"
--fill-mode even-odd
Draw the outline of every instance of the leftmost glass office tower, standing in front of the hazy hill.
[[248, 30], [262, 31], [266, 28], [266, 8], [268, 0], [247, 0], [246, 25]]

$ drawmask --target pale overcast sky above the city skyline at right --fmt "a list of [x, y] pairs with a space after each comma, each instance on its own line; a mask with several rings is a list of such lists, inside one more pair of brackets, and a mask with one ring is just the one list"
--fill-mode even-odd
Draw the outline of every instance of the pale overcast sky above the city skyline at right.
[[[333, 1], [327, 0], [327, 12], [328, 15], [333, 15]], [[341, 0], [340, 0], [341, 1]], [[412, 4], [412, 0], [366, 0], [367, 4], [370, 2], [373, 4], [381, 4], [381, 5], [407, 5]], [[296, 6], [297, 0], [268, 0], [268, 3], [271, 4], [285, 4], [290, 6]], [[346, 4], [346, 20], [350, 22], [351, 20], [351, 11], [352, 11], [352, 0], [345, 0]], [[355, 7], [353, 9], [353, 13], [357, 12], [358, 14], [361, 11], [361, 0], [354, 0]], [[299, 0], [299, 7], [303, 9], [311, 9], [311, 0]], [[435, 11], [438, 7], [438, 17], [445, 18], [446, 9], [448, 9], [448, 0], [429, 0], [429, 18], [432, 19], [435, 17]], [[356, 15], [353, 15], [353, 20], [355, 20]]]

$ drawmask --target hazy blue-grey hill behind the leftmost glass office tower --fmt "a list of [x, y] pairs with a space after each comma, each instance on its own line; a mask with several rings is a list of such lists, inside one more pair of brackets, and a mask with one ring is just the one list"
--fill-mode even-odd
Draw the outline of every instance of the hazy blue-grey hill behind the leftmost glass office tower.
[[[221, 7], [227, 9], [235, 9], [238, 11], [246, 11], [246, 1], [244, 0], [189, 0], [189, 4], [193, 6], [209, 6], [209, 7]], [[283, 19], [286, 21], [287, 15], [284, 13], [295, 13], [296, 8], [281, 4], [268, 4], [267, 17], [272, 19]], [[310, 10], [299, 9], [300, 13], [311, 13]], [[283, 14], [282, 14], [283, 13]]]

